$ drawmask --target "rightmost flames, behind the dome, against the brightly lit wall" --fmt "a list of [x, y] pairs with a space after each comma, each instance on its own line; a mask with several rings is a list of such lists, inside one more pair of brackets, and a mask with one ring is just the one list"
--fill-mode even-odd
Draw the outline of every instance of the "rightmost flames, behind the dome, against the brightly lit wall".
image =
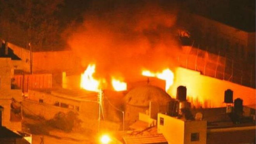
[[174, 74], [170, 69], [164, 69], [161, 73], [160, 72], [153, 73], [153, 72], [148, 71], [148, 70], [143, 70], [142, 75], [148, 76], [148, 77], [157, 77], [161, 80], [165, 80], [165, 82], [166, 82], [165, 90], [166, 91], [173, 84]]

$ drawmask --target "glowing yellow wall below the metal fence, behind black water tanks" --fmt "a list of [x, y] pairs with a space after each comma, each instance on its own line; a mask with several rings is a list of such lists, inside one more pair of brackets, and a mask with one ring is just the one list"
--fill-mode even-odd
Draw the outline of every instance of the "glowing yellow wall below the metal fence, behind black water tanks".
[[168, 90], [176, 98], [178, 86], [186, 86], [187, 99], [192, 105], [199, 103], [202, 107], [225, 106], [224, 91], [233, 90], [233, 99], [243, 99], [244, 105], [255, 104], [255, 89], [239, 84], [201, 75], [197, 71], [178, 67], [174, 70], [174, 83]]

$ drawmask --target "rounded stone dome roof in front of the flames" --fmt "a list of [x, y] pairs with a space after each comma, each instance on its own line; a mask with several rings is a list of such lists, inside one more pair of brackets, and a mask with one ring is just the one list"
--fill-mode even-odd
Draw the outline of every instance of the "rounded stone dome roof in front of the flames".
[[125, 102], [134, 106], [149, 106], [150, 101], [155, 101], [159, 105], [166, 105], [171, 97], [159, 87], [140, 86], [130, 90], [125, 96]]

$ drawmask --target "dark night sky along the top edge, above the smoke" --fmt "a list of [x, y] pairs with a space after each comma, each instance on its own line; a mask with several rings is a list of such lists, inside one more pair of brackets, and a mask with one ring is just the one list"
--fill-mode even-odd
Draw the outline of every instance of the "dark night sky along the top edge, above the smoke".
[[[156, 0], [65, 0], [63, 18], [83, 21], [89, 11], [106, 13], [120, 7], [140, 7]], [[157, 0], [163, 9], [179, 9], [200, 14], [224, 24], [255, 31], [255, 0]]]

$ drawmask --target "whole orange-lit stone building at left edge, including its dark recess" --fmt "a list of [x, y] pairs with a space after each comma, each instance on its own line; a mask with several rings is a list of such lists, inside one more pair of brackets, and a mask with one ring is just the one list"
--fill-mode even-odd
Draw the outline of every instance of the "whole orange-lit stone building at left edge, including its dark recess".
[[12, 85], [13, 67], [11, 58], [0, 58], [0, 106], [2, 126], [20, 131], [22, 129], [22, 91]]

